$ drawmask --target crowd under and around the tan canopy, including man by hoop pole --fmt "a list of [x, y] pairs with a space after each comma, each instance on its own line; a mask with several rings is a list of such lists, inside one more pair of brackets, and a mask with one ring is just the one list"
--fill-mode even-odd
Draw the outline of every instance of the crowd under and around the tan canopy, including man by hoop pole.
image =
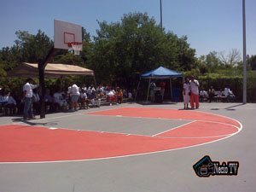
[[[10, 115], [23, 113], [25, 120], [35, 119], [34, 113], [40, 112], [39, 87], [37, 84], [33, 84], [32, 79], [26, 79], [22, 90], [23, 95], [20, 97], [11, 96], [10, 91], [1, 91], [0, 101], [3, 113]], [[67, 90], [57, 89], [51, 93], [49, 89], [46, 89], [44, 94], [45, 108], [49, 112], [74, 112], [79, 109], [100, 108], [102, 100], [113, 105], [121, 104], [124, 98], [132, 100], [131, 92], [102, 84], [99, 84], [98, 87], [93, 84], [86, 87], [85, 84], [78, 86], [72, 83]]]

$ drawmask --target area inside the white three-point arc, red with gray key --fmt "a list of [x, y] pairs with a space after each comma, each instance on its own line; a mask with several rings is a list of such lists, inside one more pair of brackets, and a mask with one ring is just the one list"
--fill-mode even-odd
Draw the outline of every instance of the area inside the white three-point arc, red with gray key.
[[54, 121], [43, 126], [1, 125], [0, 161], [61, 162], [152, 154], [217, 142], [242, 129], [236, 119], [170, 108], [113, 108], [76, 116], [69, 125], [68, 116], [57, 126]]

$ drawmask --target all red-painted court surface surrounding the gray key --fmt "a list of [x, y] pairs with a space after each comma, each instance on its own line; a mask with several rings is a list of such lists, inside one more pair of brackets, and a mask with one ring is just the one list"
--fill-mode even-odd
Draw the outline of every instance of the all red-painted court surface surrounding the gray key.
[[156, 153], [211, 143], [241, 130], [241, 124], [235, 119], [176, 109], [118, 108], [84, 115], [189, 119], [191, 122], [154, 136], [2, 125], [0, 162], [95, 160]]

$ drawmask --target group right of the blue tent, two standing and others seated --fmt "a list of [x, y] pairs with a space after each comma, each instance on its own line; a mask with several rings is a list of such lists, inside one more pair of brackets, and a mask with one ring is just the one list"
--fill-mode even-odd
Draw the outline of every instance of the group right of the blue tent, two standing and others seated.
[[192, 109], [199, 108], [200, 98], [207, 98], [209, 102], [212, 102], [213, 98], [226, 98], [228, 101], [234, 101], [236, 99], [236, 96], [233, 94], [232, 90], [230, 90], [229, 85], [225, 85], [224, 91], [216, 91], [213, 89], [213, 86], [211, 86], [208, 91], [199, 91], [199, 85], [198, 80], [196, 80], [194, 76], [191, 76], [190, 79], [185, 79], [185, 82], [183, 83], [184, 109], [189, 108], [189, 103]]

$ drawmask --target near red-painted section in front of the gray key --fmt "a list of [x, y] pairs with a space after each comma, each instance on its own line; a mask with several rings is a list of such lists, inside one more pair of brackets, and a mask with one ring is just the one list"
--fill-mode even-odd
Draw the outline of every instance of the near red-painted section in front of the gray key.
[[189, 147], [219, 138], [223, 137], [175, 139], [4, 125], [0, 126], [0, 161], [89, 160]]

